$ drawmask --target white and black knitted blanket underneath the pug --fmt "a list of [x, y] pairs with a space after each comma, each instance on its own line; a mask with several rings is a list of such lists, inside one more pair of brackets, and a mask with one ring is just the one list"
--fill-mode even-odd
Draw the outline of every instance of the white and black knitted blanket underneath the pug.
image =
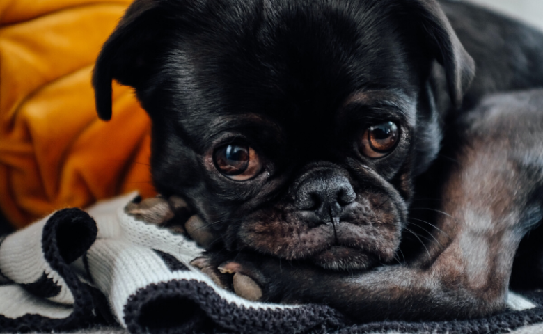
[[191, 267], [194, 241], [136, 220], [136, 194], [63, 209], [0, 239], [0, 332], [117, 325], [130, 333], [509, 333], [543, 322], [543, 293], [469, 321], [354, 324], [325, 305], [246, 301]]

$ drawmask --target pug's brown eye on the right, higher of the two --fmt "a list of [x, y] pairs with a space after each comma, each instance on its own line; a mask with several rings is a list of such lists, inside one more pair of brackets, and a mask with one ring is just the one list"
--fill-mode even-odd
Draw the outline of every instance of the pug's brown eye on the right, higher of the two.
[[393, 122], [368, 127], [362, 136], [361, 151], [366, 157], [384, 157], [395, 147], [398, 138], [398, 127]]

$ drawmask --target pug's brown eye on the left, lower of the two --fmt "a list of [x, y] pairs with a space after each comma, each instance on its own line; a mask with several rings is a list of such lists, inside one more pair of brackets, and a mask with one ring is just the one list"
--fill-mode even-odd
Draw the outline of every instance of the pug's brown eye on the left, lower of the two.
[[262, 168], [258, 154], [244, 144], [224, 145], [213, 153], [217, 170], [229, 179], [245, 181], [251, 179]]

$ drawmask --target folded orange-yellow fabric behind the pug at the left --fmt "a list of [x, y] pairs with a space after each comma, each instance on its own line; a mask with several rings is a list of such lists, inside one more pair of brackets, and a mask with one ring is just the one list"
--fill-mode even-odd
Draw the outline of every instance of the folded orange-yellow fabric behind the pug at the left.
[[0, 210], [16, 227], [62, 207], [152, 196], [150, 120], [113, 86], [96, 116], [91, 72], [131, 0], [0, 1]]

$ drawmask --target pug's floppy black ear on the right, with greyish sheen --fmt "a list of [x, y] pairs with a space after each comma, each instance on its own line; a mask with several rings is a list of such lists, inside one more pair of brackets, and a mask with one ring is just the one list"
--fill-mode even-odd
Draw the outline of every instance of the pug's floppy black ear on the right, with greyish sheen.
[[[435, 0], [409, 0], [434, 56], [445, 69], [450, 100], [456, 108], [475, 77], [475, 62], [458, 39], [453, 26]], [[417, 24], [417, 22], [415, 22]]]

